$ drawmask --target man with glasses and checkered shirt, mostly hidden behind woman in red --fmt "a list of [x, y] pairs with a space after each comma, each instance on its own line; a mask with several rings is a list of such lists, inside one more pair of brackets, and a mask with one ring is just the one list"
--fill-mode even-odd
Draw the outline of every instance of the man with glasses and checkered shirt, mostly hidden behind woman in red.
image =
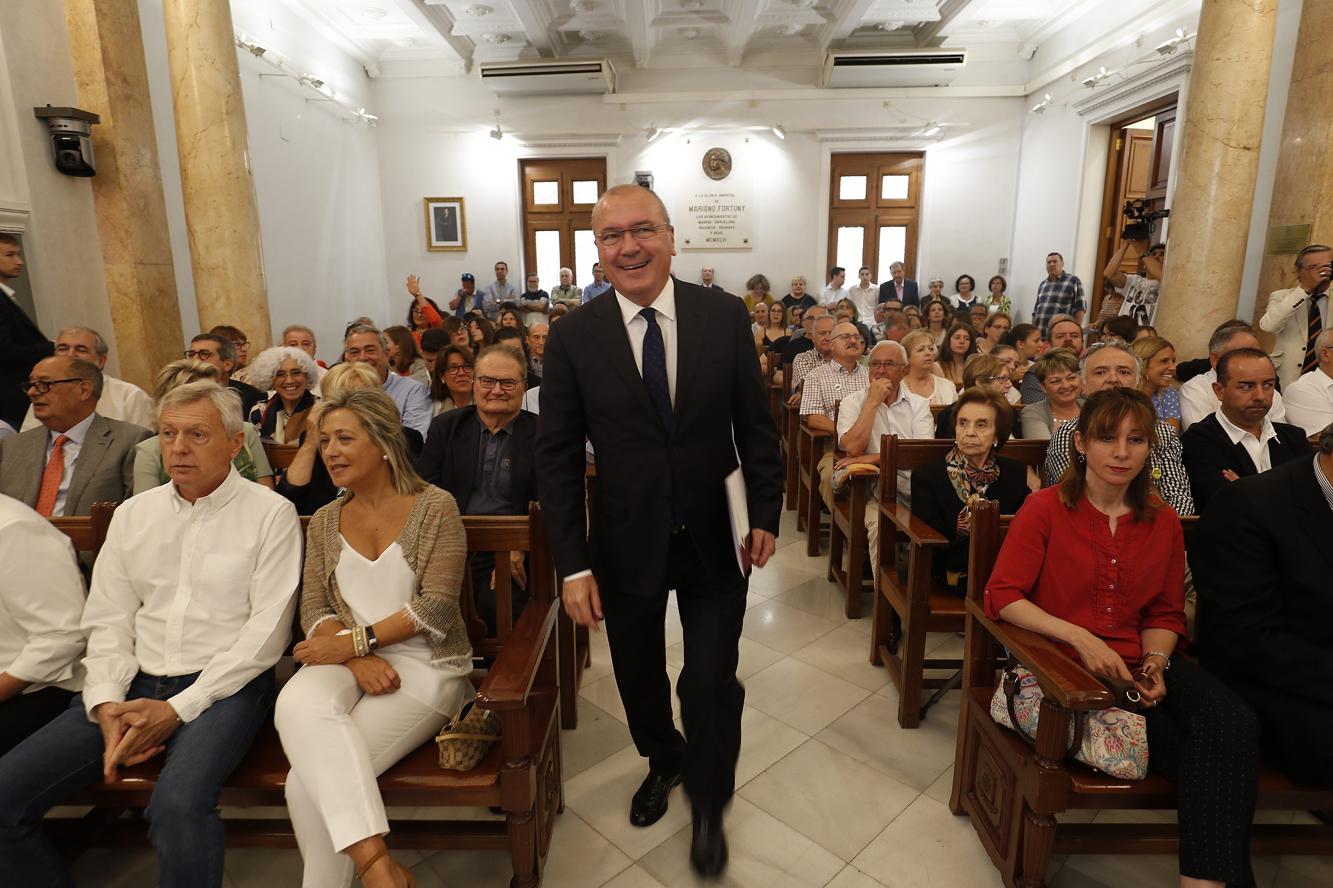
[[[1112, 386], [1138, 387], [1142, 367], [1138, 357], [1130, 350], [1128, 342], [1112, 339], [1088, 346], [1082, 361], [1078, 362], [1078, 375], [1084, 381], [1084, 393], [1092, 394]], [[1069, 445], [1074, 439], [1077, 422], [1066, 422], [1050, 435], [1046, 447], [1046, 486], [1060, 483], [1061, 475], [1069, 467]], [[1157, 486], [1162, 499], [1166, 501], [1177, 515], [1194, 514], [1194, 498], [1189, 493], [1189, 475], [1185, 474], [1185, 465], [1180, 459], [1180, 437], [1176, 429], [1161, 419], [1157, 421], [1157, 446], [1153, 447], [1149, 458], [1149, 469], [1153, 474], [1153, 485]]]

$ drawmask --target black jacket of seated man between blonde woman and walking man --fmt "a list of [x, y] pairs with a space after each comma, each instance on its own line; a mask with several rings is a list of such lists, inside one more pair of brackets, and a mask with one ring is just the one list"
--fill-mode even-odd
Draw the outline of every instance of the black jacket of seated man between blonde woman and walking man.
[[[591, 302], [589, 302], [591, 305]], [[516, 515], [528, 514], [528, 503], [537, 499], [537, 473], [532, 454], [537, 439], [537, 417], [520, 410], [509, 443], [509, 499]], [[417, 457], [416, 470], [425, 481], [444, 487], [467, 515], [472, 486], [477, 481], [477, 450], [481, 442], [481, 419], [476, 405], [447, 410], [431, 421], [425, 446]]]

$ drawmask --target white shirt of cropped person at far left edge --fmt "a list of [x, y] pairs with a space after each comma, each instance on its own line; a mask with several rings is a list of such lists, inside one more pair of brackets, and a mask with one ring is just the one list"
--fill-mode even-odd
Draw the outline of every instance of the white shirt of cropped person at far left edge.
[[44, 687], [77, 691], [84, 587], [69, 538], [35, 509], [0, 494], [0, 672]]

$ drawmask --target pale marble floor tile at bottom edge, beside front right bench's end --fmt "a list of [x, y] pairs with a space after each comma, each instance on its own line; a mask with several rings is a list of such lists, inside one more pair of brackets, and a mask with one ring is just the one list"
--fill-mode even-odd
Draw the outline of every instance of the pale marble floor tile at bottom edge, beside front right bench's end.
[[1004, 885], [972, 823], [925, 796], [908, 805], [852, 865], [892, 888]]

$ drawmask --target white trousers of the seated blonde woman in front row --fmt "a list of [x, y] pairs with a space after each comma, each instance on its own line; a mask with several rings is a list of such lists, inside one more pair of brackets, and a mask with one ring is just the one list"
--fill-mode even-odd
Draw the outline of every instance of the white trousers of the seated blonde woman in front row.
[[[389, 831], [376, 777], [439, 734], [472, 691], [467, 676], [449, 700], [424, 703], [403, 687], [371, 696], [345, 666], [305, 666], [277, 695], [273, 723], [292, 764], [287, 808], [305, 861], [304, 888], [347, 888], [356, 867], [339, 853]], [[396, 659], [396, 658], [395, 658]], [[420, 666], [420, 664], [413, 664]]]

